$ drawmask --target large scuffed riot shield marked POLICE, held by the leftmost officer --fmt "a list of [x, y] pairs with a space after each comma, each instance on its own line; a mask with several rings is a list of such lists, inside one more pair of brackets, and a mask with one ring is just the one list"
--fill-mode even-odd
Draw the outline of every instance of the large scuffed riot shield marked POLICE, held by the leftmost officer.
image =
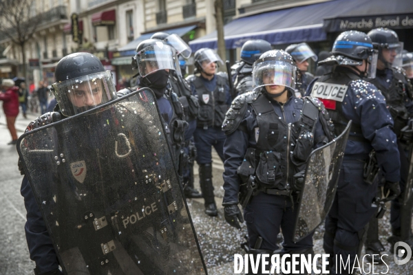
[[65, 274], [207, 274], [153, 93], [22, 135]]

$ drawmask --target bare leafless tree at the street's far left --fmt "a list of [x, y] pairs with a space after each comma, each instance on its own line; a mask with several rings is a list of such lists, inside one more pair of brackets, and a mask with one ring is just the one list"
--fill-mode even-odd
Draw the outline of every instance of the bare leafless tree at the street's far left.
[[18, 45], [23, 57], [23, 76], [26, 75], [26, 43], [32, 39], [42, 17], [34, 6], [36, 0], [0, 0], [0, 37]]

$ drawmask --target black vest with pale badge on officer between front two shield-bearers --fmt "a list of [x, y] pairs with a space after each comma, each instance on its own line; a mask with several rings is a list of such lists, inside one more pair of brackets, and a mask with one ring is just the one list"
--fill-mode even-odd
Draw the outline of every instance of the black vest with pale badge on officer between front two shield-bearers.
[[225, 113], [229, 107], [226, 104], [226, 80], [218, 75], [215, 75], [215, 77], [217, 78], [217, 83], [213, 91], [209, 91], [205, 87], [204, 81], [200, 77], [193, 80], [193, 85], [195, 85], [200, 102], [197, 126], [204, 129], [209, 127], [221, 128]]

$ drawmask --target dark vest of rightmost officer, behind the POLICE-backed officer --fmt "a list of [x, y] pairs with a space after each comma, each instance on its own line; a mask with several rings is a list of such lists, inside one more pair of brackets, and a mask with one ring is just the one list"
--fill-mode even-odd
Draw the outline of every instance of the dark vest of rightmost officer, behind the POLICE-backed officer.
[[409, 112], [405, 107], [405, 100], [408, 96], [404, 84], [405, 77], [397, 69], [391, 68], [391, 70], [393, 77], [388, 89], [381, 84], [377, 76], [370, 80], [370, 83], [376, 86], [385, 97], [385, 102], [394, 120], [394, 133], [399, 136], [401, 129], [407, 125], [409, 119]]

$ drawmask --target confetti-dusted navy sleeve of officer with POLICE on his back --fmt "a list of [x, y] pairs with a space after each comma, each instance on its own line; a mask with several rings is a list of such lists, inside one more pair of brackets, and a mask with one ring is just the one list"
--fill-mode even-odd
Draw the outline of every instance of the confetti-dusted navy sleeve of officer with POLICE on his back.
[[[350, 84], [354, 94], [359, 94], [354, 109], [360, 119], [363, 136], [370, 140], [376, 151], [377, 162], [387, 181], [400, 180], [400, 158], [397, 137], [393, 131], [392, 115], [387, 109], [383, 95], [370, 83], [360, 80]], [[354, 92], [358, 91], [358, 92]]]

